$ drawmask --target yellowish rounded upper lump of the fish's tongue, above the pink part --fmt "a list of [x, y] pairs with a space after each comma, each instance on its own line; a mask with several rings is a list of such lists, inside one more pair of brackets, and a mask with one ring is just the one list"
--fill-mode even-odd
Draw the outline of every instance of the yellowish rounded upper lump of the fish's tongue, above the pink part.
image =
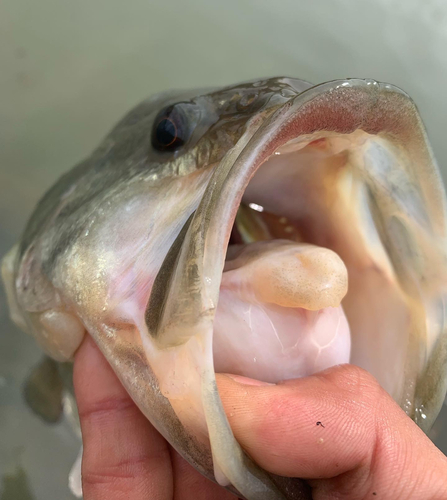
[[233, 290], [247, 302], [316, 311], [340, 305], [348, 291], [348, 272], [340, 257], [327, 248], [287, 240], [259, 241], [240, 247], [226, 261], [222, 289]]

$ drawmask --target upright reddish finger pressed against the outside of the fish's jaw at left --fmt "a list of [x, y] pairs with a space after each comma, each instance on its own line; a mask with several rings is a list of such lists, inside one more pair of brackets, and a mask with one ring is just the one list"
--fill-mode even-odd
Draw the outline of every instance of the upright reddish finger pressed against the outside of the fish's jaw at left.
[[88, 335], [76, 353], [73, 379], [84, 444], [84, 499], [171, 500], [166, 441], [135, 406]]

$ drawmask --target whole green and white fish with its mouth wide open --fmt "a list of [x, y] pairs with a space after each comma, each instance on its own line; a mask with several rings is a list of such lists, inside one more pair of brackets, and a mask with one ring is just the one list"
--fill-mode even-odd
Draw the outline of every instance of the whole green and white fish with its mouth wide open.
[[44, 195], [2, 275], [47, 356], [67, 363], [90, 335], [202, 474], [247, 500], [309, 499], [245, 453], [215, 374], [350, 362], [428, 432], [447, 390], [446, 229], [404, 91], [275, 77], [137, 105]]

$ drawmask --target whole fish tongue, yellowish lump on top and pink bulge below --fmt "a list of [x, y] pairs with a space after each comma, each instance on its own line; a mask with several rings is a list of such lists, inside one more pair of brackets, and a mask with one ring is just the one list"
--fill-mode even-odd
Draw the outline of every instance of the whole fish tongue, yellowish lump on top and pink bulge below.
[[285, 240], [246, 245], [222, 277], [216, 372], [277, 382], [349, 362], [346, 292], [346, 268], [331, 250]]

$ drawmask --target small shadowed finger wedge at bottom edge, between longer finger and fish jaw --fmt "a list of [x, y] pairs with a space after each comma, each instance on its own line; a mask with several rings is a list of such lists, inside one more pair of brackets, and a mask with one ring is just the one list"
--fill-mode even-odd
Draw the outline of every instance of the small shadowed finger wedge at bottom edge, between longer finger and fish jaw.
[[171, 448], [174, 500], [237, 500], [224, 488], [202, 476]]

